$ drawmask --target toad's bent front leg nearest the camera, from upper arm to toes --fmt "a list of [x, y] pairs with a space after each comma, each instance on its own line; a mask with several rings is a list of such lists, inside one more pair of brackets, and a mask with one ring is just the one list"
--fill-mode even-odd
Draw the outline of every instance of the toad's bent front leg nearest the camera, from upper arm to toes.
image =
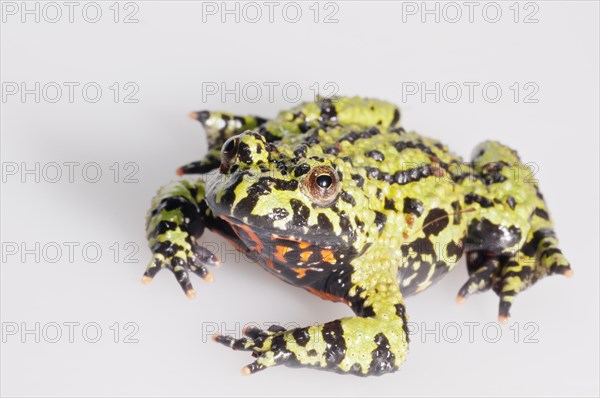
[[290, 330], [247, 328], [241, 339], [223, 335], [214, 339], [234, 350], [252, 353], [256, 360], [242, 369], [243, 374], [275, 365], [359, 376], [394, 372], [408, 350], [407, 319], [396, 276], [377, 275], [371, 289], [355, 287], [361, 288], [350, 289], [347, 296], [356, 312], [354, 317]]

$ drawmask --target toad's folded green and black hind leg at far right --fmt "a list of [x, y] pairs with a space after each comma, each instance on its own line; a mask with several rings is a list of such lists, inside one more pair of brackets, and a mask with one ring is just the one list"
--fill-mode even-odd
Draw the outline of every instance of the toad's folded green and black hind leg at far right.
[[475, 149], [472, 178], [463, 182], [469, 213], [466, 239], [469, 279], [457, 300], [493, 289], [499, 320], [507, 321], [518, 293], [541, 278], [570, 276], [537, 181], [517, 153], [498, 143]]

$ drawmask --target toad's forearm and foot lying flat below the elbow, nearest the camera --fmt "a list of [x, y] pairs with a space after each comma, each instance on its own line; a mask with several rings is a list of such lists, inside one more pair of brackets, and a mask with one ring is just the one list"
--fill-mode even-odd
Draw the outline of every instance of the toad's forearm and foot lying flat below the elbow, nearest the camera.
[[256, 360], [242, 368], [245, 375], [287, 365], [367, 376], [394, 372], [404, 361], [408, 342], [402, 326], [399, 319], [353, 317], [290, 330], [246, 328], [241, 339], [213, 339], [252, 353]]

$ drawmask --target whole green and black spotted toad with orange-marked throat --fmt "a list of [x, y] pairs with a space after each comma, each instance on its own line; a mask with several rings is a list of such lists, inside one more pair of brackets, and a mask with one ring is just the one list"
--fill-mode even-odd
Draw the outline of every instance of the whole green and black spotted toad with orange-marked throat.
[[[397, 107], [358, 97], [319, 99], [267, 121], [195, 112], [209, 153], [178, 174], [210, 174], [158, 192], [147, 218], [153, 259], [190, 297], [189, 271], [210, 279], [209, 228], [280, 279], [348, 304], [354, 317], [284, 330], [215, 336], [256, 360], [357, 375], [397, 370], [408, 349], [403, 296], [467, 256], [458, 300], [492, 288], [506, 320], [517, 293], [570, 275], [537, 183], [516, 152], [485, 142], [466, 164], [438, 141], [407, 133]], [[530, 173], [529, 173], [530, 174]], [[206, 184], [204, 183], [206, 181]]]

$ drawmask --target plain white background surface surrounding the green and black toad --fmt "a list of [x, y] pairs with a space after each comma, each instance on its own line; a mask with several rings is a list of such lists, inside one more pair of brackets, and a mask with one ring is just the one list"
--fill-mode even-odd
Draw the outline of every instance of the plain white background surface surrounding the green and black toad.
[[[254, 18], [247, 8], [239, 22], [235, 15], [222, 22], [220, 13], [203, 14], [201, 3], [155, 1], [118, 5], [118, 23], [112, 2], [98, 3], [102, 17], [90, 23], [82, 17], [85, 4], [75, 8], [72, 23], [62, 5], [56, 23], [46, 20], [55, 17], [49, 8], [39, 23], [32, 15], [22, 22], [20, 9], [16, 15], [13, 9], [3, 13], [3, 396], [598, 395], [597, 2], [521, 3], [518, 22], [513, 2], [499, 2], [502, 16], [496, 23], [482, 16], [486, 3], [478, 4], [469, 22], [468, 8], [459, 2], [462, 18], [456, 23], [449, 21], [455, 9], [442, 3], [438, 7], [446, 14], [439, 22], [435, 15], [422, 22], [420, 13], [403, 13], [414, 8], [400, 2], [363, 1], [336, 2], [328, 9], [321, 4], [317, 23], [312, 2], [299, 3], [297, 23], [282, 17], [282, 3], [272, 23], [262, 3], [263, 16], [256, 23], [247, 20]], [[420, 2], [412, 4], [422, 9]], [[33, 9], [35, 3], [28, 6]], [[43, 4], [38, 7], [43, 12]], [[93, 18], [94, 10], [87, 11]], [[138, 22], [123, 23], [134, 11]], [[338, 22], [324, 23], [332, 11]], [[487, 11], [493, 19], [494, 9]], [[538, 22], [524, 23], [532, 12], [529, 20]], [[41, 93], [39, 103], [33, 94], [8, 95], [14, 84], [31, 89], [35, 82], [40, 87], [75, 82], [79, 88], [73, 103], [66, 86], [56, 103], [50, 102], [54, 91]], [[96, 103], [81, 94], [89, 82], [103, 90]], [[115, 82], [121, 85], [117, 103], [109, 88]], [[123, 90], [127, 82], [139, 88], [133, 96], [137, 103], [123, 101], [122, 95], [132, 91]], [[256, 102], [249, 91], [223, 100], [208, 95], [211, 82], [230, 89], [236, 82], [240, 87], [254, 82], [264, 90]], [[272, 99], [265, 82], [279, 84]], [[493, 343], [497, 297], [486, 293], [455, 304], [466, 280], [461, 265], [408, 299], [410, 320], [419, 331], [400, 372], [365, 379], [277, 367], [242, 377], [239, 369], [252, 358], [212, 343], [209, 335], [216, 329], [235, 334], [250, 322], [309, 325], [347, 316], [349, 309], [277, 281], [210, 233], [205, 241], [222, 245], [225, 265], [214, 272], [212, 284], [194, 278], [196, 300], [187, 300], [167, 272], [142, 286], [139, 279], [150, 258], [145, 212], [156, 189], [176, 178], [175, 169], [206, 150], [202, 129], [186, 118], [189, 111], [271, 117], [294, 105], [289, 102], [293, 91], [288, 97], [281, 92], [284, 84], [297, 84], [302, 98], [310, 99], [311, 86], [328, 82], [340, 94], [398, 103], [405, 127], [440, 139], [465, 157], [478, 142], [497, 139], [518, 149], [524, 161], [535, 162], [575, 276], [552, 277], [521, 294], [511, 322]], [[421, 82], [430, 89], [435, 82], [440, 87], [455, 82], [463, 86], [463, 96], [453, 103], [450, 91], [439, 102], [433, 95], [407, 95], [409, 86]], [[464, 82], [479, 84], [472, 102]], [[493, 91], [488, 97], [481, 93], [490, 82], [502, 89], [495, 103]], [[510, 88], [515, 82], [521, 94], [516, 102]], [[528, 82], [534, 86], [525, 90]], [[524, 101], [531, 87], [538, 89], [530, 98], [537, 103]], [[35, 172], [22, 173], [23, 166], [34, 169], [36, 162], [39, 182]], [[52, 162], [79, 162], [73, 182], [63, 165], [62, 177], [52, 183]], [[90, 162], [102, 170], [97, 183], [83, 178], [82, 167]], [[110, 169], [115, 162], [117, 183]], [[138, 169], [124, 169], [128, 162]], [[138, 182], [125, 183], [132, 171]], [[87, 173], [94, 178], [93, 168]], [[73, 261], [65, 242], [79, 245]], [[91, 249], [82, 253], [90, 242]], [[128, 242], [139, 247], [132, 256], [137, 263], [124, 261], [135, 248], [125, 247]], [[22, 258], [22, 244], [34, 253]], [[15, 245], [19, 252], [12, 254]], [[56, 246], [63, 250], [52, 262]], [[92, 262], [94, 246], [102, 249], [97, 262]], [[72, 341], [65, 322], [78, 323]], [[111, 329], [115, 322], [118, 336]], [[475, 322], [472, 342], [469, 322]], [[133, 326], [125, 329], [126, 323]], [[52, 343], [56, 324], [62, 335]], [[94, 325], [102, 336], [91, 343]], [[461, 335], [452, 342], [457, 326]], [[124, 342], [128, 331], [135, 332], [131, 338], [137, 343]]]

